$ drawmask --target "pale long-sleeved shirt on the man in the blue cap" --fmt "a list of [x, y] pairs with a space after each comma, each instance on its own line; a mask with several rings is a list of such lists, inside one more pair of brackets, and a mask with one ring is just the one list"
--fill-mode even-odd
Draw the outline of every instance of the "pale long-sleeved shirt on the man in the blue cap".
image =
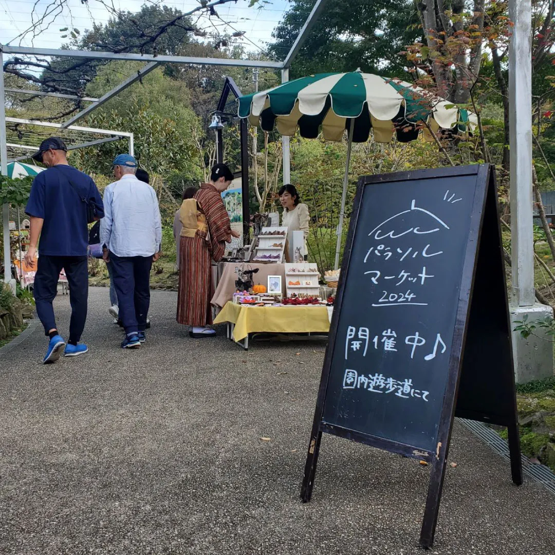
[[162, 246], [158, 197], [134, 174], [124, 174], [104, 189], [100, 244], [116, 256], [152, 256]]

